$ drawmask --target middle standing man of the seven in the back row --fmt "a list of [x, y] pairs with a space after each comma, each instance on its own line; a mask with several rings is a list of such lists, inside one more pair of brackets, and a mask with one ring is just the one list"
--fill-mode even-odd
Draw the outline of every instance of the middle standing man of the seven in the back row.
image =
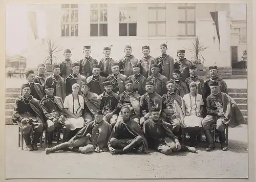
[[139, 60], [132, 55], [132, 46], [125, 45], [124, 56], [119, 59], [120, 73], [126, 77], [133, 75], [133, 65], [138, 64]]

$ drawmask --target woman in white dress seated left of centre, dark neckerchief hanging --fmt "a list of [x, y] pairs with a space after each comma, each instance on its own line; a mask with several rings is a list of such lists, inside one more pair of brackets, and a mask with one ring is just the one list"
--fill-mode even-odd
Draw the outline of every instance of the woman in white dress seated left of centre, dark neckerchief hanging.
[[82, 111], [84, 108], [83, 97], [78, 95], [80, 86], [75, 83], [72, 85], [72, 94], [68, 95], [64, 101], [64, 112], [70, 122], [71, 130], [82, 128], [84, 120], [82, 118]]

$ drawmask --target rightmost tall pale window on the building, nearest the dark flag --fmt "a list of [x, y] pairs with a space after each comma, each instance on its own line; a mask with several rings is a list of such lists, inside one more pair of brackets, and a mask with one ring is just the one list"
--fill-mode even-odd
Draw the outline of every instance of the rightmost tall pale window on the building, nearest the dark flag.
[[179, 36], [196, 35], [195, 15], [196, 11], [194, 3], [179, 4]]

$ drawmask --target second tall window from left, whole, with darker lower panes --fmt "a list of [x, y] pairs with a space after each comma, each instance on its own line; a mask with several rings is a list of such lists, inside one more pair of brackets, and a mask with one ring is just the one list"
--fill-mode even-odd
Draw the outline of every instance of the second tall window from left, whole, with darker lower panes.
[[91, 4], [91, 27], [92, 37], [108, 36], [108, 5]]

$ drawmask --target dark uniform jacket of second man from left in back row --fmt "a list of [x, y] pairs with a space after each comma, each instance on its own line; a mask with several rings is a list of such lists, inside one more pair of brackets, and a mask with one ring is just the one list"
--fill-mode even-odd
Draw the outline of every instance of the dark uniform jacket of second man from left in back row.
[[89, 58], [83, 58], [79, 61], [80, 70], [79, 73], [86, 78], [93, 75], [92, 67], [93, 64], [98, 64], [96, 59], [93, 59], [91, 56]]

